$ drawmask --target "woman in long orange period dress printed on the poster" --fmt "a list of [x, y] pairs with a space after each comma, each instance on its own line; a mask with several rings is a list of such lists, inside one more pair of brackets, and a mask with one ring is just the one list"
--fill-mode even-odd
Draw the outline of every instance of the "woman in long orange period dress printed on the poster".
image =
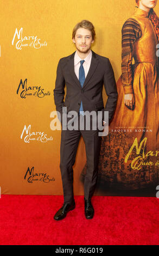
[[[159, 38], [159, 19], [153, 10], [157, 0], [136, 0], [135, 13], [122, 28], [122, 76], [117, 82], [118, 101], [109, 126], [109, 134], [101, 139], [98, 166], [98, 185], [121, 190], [135, 190], [158, 184], [159, 160], [159, 71], [156, 45]], [[132, 64], [134, 59], [135, 64]], [[144, 140], [147, 138], [147, 141]], [[141, 150], [137, 154], [133, 142]], [[141, 142], [145, 143], [141, 143]], [[145, 146], [145, 147], [144, 147]], [[154, 155], [132, 168], [132, 160], [148, 151]], [[134, 167], [134, 166], [133, 166]], [[86, 173], [86, 164], [81, 179]], [[103, 186], [102, 186], [103, 187]]]

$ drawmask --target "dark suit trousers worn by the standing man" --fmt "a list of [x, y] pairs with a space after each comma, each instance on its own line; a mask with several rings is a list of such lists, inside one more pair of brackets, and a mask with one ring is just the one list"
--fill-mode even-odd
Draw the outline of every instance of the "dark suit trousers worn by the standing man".
[[[77, 130], [61, 131], [61, 145], [60, 145], [60, 170], [63, 186], [63, 198], [64, 203], [71, 204], [74, 202], [73, 193], [73, 165], [75, 163], [75, 157], [77, 155], [77, 149], [79, 140], [82, 135], [86, 149], [87, 170], [84, 181], [84, 197], [85, 199], [91, 199], [97, 184], [98, 177], [98, 161], [100, 153], [101, 137], [98, 136], [99, 130], [84, 130], [80, 129], [80, 122], [86, 121], [86, 117], [77, 115], [76, 121], [78, 121]], [[82, 169], [82, 166], [81, 166]]]

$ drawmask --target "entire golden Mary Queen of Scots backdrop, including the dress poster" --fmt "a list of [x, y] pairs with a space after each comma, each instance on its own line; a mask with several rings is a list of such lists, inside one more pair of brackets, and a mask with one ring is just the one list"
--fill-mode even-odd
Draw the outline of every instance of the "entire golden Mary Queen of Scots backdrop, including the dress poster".
[[[141, 62], [137, 66], [133, 59], [132, 63], [137, 102], [134, 111], [124, 105], [121, 82], [122, 27], [132, 17], [135, 6], [135, 0], [1, 1], [2, 194], [63, 193], [59, 166], [61, 130], [52, 130], [56, 109], [53, 90], [59, 59], [75, 51], [73, 28], [86, 19], [93, 23], [96, 31], [92, 50], [110, 59], [119, 94], [109, 136], [102, 139], [99, 179], [94, 194], [138, 196], [142, 191], [143, 196], [153, 196], [154, 187], [159, 184], [159, 90], [153, 55], [158, 38], [153, 22], [143, 13], [138, 13], [139, 27], [136, 27], [138, 34], [139, 29], [142, 33], [147, 30], [146, 38], [142, 34], [139, 47], [143, 46], [148, 56], [144, 59], [142, 55], [143, 59], [138, 60], [137, 48], [133, 48], [135, 61]], [[154, 10], [159, 15], [159, 3]], [[144, 19], [151, 22], [151, 28]], [[152, 29], [154, 34], [149, 42]], [[149, 47], [145, 49], [145, 46]], [[125, 56], [128, 57], [128, 52]], [[104, 105], [106, 99], [103, 89]], [[82, 137], [73, 169], [74, 194], [83, 195], [86, 153]]]

